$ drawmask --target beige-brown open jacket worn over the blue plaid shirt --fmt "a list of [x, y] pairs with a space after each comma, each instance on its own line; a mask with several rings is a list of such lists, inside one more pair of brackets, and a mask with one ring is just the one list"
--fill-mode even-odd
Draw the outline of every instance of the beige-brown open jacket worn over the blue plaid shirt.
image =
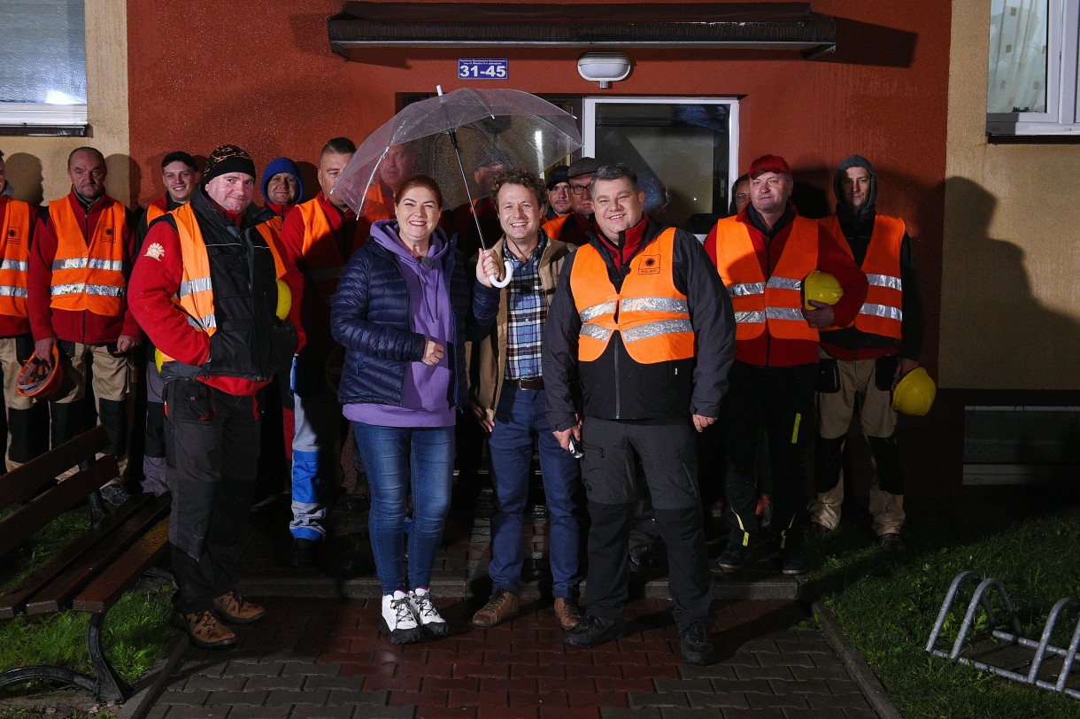
[[[543, 230], [540, 232], [542, 233]], [[500, 266], [504, 259], [503, 246], [503, 238], [500, 238], [499, 242], [495, 243], [491, 248]], [[551, 300], [555, 296], [555, 282], [563, 270], [563, 261], [575, 249], [577, 249], [576, 246], [558, 240], [548, 240], [548, 244], [544, 246], [543, 254], [540, 256], [540, 284], [543, 286], [548, 307], [551, 307]], [[507, 374], [507, 334], [510, 326], [507, 296], [509, 293], [509, 286], [502, 288], [499, 298], [499, 314], [491, 334], [478, 342], [470, 342], [465, 345], [469, 366], [469, 397], [473, 404], [484, 408], [488, 420], [495, 418], [495, 409], [499, 406], [499, 395], [502, 392], [502, 380]]]

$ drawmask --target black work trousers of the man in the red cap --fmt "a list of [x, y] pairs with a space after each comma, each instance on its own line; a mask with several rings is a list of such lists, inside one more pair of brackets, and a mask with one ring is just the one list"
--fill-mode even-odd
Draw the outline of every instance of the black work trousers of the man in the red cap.
[[[735, 362], [720, 420], [727, 452], [724, 486], [730, 512], [729, 543], [751, 546], [757, 531], [757, 457], [772, 466], [772, 528], [801, 540], [806, 517], [806, 452], [814, 437], [813, 393], [818, 365], [757, 367]], [[762, 428], [767, 446], [761, 446]]]

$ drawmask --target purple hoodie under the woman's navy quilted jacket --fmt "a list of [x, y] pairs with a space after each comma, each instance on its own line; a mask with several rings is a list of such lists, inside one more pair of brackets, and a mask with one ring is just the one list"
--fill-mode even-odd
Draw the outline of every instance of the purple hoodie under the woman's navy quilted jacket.
[[444, 348], [446, 353], [434, 367], [422, 362], [411, 362], [405, 371], [402, 388], [402, 404], [391, 405], [356, 404], [346, 405], [347, 419], [378, 424], [381, 426], [453, 426], [456, 421], [450, 396], [450, 340], [454, 336], [454, 310], [450, 304], [450, 289], [443, 274], [443, 262], [450, 252], [450, 244], [441, 229], [431, 235], [431, 247], [422, 259], [413, 257], [408, 248], [397, 238], [397, 222], [387, 220], [372, 227], [368, 242], [377, 242], [397, 258], [402, 276], [408, 287], [410, 329]]

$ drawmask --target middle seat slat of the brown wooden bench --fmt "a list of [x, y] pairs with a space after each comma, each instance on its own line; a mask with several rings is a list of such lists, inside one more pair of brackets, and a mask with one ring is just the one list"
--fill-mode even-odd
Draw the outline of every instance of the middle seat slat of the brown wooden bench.
[[143, 534], [153, 530], [161, 518], [168, 513], [168, 505], [160, 501], [148, 502], [137, 512], [105, 535], [92, 551], [84, 553], [75, 562], [42, 587], [26, 602], [27, 614], [45, 614], [59, 611], [68, 606], [71, 597], [118, 561], [124, 553], [137, 544]]

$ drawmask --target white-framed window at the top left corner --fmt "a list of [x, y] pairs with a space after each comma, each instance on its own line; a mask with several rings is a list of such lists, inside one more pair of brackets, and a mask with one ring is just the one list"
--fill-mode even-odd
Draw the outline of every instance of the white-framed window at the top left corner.
[[[83, 0], [0, 0], [0, 128], [86, 125]], [[50, 133], [51, 134], [51, 133]]]

